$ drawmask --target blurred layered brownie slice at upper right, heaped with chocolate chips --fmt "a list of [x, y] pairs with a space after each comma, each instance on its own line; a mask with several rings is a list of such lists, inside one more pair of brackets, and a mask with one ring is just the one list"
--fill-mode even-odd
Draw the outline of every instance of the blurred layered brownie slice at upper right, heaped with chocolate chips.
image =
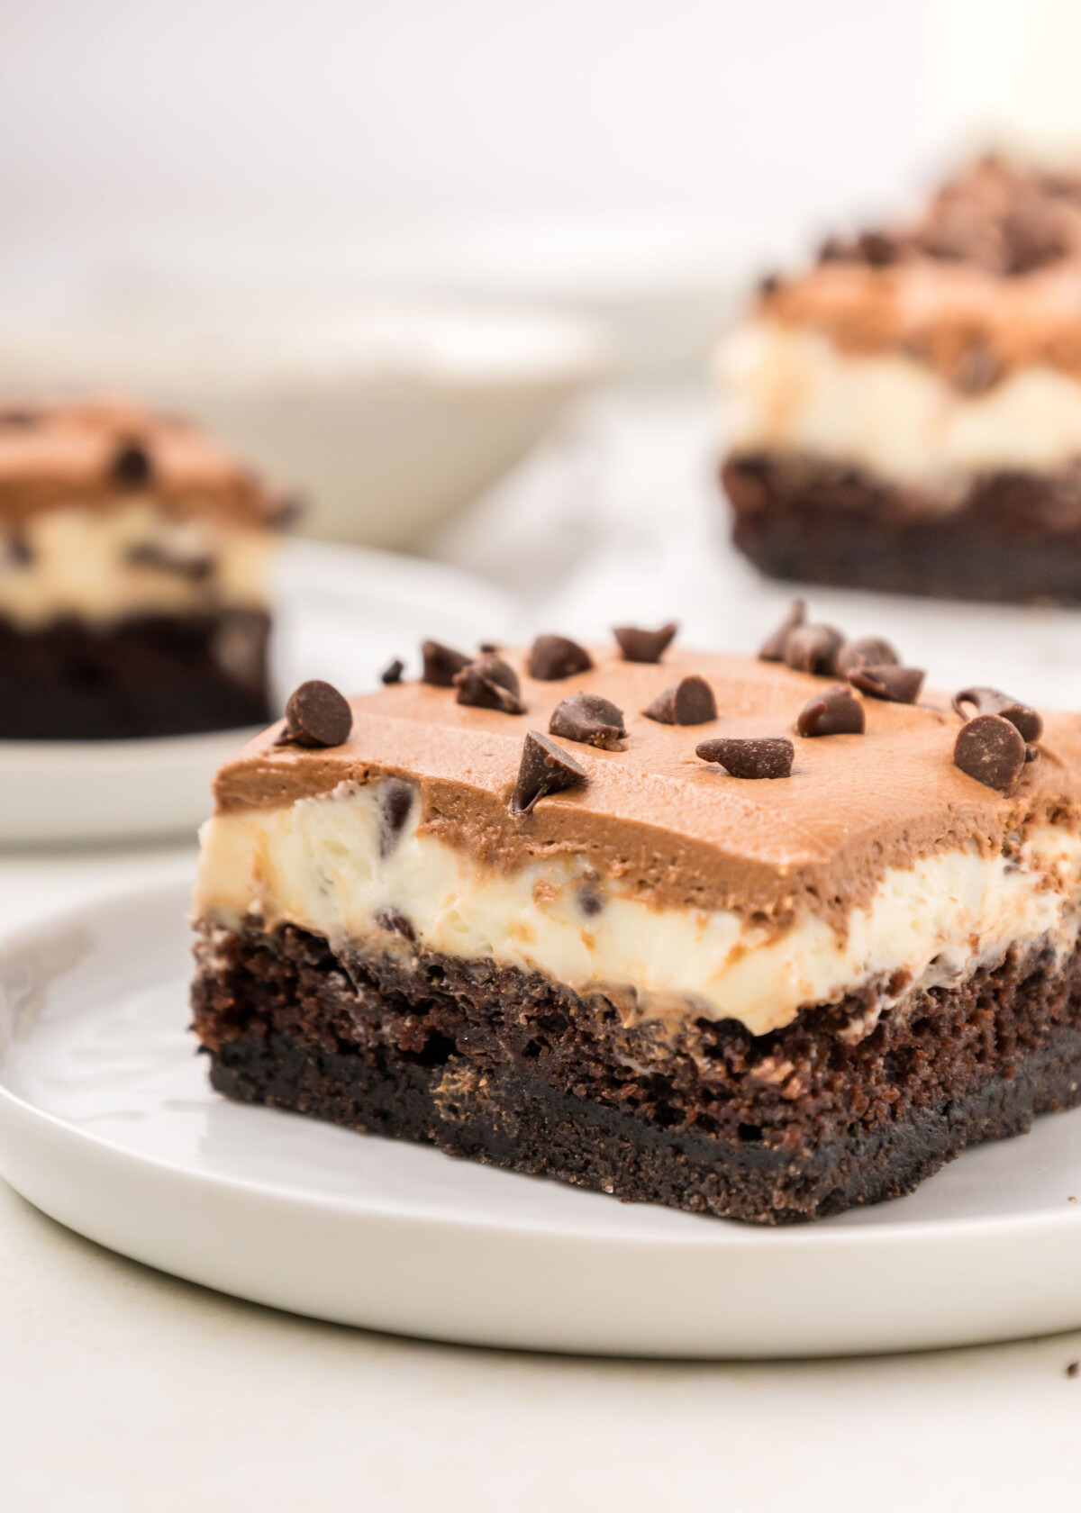
[[1081, 177], [984, 159], [916, 221], [763, 280], [718, 350], [766, 573], [1081, 599]]

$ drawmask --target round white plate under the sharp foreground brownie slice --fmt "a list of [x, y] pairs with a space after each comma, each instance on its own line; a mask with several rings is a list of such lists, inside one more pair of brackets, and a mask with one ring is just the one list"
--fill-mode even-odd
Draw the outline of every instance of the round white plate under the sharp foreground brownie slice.
[[186, 1029], [186, 888], [0, 947], [0, 1171], [71, 1229], [276, 1307], [438, 1339], [810, 1356], [1081, 1325], [1081, 1111], [919, 1192], [757, 1230], [227, 1103]]

